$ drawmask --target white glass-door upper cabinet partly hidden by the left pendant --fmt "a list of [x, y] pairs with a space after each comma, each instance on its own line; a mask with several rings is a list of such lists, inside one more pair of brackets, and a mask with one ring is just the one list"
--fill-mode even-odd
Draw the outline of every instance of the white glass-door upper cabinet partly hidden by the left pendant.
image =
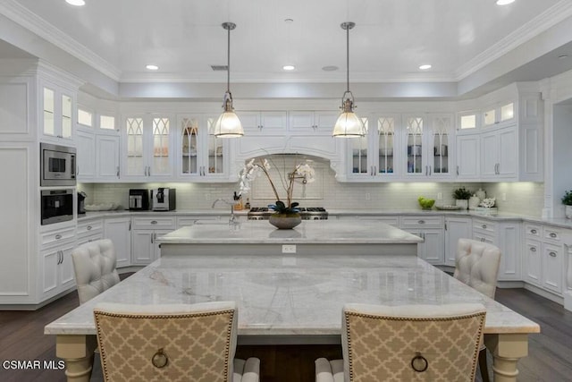
[[194, 182], [231, 181], [230, 141], [216, 138], [209, 130], [216, 117], [178, 115], [177, 175]]

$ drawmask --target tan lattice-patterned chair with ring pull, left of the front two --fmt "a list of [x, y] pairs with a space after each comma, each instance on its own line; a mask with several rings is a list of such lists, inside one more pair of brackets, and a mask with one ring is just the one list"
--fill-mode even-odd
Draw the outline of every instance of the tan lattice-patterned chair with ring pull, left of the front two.
[[94, 309], [105, 382], [258, 382], [257, 358], [235, 360], [233, 301], [172, 305], [101, 303]]

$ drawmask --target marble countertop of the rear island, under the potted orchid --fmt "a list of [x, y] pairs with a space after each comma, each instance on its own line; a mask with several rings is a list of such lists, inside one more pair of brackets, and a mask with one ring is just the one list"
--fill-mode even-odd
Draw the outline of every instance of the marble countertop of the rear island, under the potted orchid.
[[267, 220], [248, 220], [232, 226], [226, 221], [182, 227], [156, 239], [161, 244], [238, 243], [363, 243], [387, 244], [423, 242], [399, 228], [364, 220], [303, 220], [291, 230], [279, 230]]

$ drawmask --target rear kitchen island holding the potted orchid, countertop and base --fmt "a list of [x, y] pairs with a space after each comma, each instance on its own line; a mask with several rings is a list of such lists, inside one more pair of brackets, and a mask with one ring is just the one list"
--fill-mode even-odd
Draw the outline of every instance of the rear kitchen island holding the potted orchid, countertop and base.
[[381, 222], [307, 220], [279, 230], [265, 220], [206, 222], [156, 239], [161, 256], [199, 253], [233, 255], [416, 255], [418, 236]]

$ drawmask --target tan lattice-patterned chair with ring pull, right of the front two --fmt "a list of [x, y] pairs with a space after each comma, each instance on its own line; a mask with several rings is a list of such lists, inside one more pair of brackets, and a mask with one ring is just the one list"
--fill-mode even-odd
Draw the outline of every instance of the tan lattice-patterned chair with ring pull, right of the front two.
[[316, 382], [472, 381], [482, 304], [346, 304], [343, 360], [315, 360]]

